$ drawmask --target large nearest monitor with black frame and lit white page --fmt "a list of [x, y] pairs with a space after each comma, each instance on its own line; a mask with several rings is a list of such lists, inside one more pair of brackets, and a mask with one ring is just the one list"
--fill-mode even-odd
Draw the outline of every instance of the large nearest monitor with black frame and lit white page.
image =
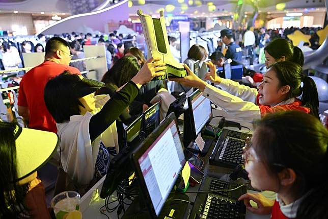
[[131, 162], [148, 212], [157, 218], [185, 165], [174, 113], [131, 153]]

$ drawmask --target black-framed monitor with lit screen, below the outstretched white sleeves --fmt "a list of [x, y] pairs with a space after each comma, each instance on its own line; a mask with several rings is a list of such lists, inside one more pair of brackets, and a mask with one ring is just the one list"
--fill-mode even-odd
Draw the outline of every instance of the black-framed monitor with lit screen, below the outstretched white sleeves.
[[184, 113], [183, 141], [187, 146], [196, 139], [201, 130], [212, 118], [212, 108], [209, 99], [197, 89], [187, 98], [188, 109]]

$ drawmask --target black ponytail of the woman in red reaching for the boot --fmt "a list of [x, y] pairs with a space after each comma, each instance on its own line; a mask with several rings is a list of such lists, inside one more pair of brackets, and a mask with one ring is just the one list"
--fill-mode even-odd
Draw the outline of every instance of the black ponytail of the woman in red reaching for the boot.
[[308, 76], [304, 78], [302, 90], [302, 105], [310, 108], [310, 113], [320, 119], [318, 90], [312, 78]]

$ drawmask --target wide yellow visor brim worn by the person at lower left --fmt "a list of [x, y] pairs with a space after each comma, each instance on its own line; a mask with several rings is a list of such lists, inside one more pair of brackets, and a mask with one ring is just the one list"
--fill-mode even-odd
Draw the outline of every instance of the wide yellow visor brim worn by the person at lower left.
[[17, 181], [22, 180], [46, 164], [56, 151], [59, 138], [53, 132], [16, 126]]

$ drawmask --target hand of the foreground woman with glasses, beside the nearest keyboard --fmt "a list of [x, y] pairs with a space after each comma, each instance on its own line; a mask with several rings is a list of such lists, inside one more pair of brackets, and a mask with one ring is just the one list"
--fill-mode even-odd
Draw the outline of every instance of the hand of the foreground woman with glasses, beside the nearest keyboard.
[[[238, 201], [244, 200], [244, 204], [247, 210], [256, 214], [270, 214], [272, 211], [272, 206], [274, 206], [275, 200], [269, 200], [263, 196], [261, 193], [245, 193], [238, 198]], [[258, 208], [253, 208], [250, 201], [254, 201]]]

